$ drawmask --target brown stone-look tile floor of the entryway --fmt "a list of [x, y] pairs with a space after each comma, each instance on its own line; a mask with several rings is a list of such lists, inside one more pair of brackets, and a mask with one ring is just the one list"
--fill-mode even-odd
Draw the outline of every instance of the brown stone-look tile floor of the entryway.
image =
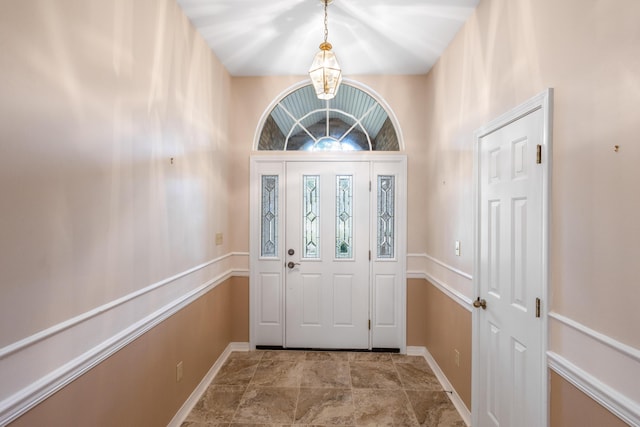
[[234, 352], [182, 427], [452, 426], [464, 422], [424, 358]]

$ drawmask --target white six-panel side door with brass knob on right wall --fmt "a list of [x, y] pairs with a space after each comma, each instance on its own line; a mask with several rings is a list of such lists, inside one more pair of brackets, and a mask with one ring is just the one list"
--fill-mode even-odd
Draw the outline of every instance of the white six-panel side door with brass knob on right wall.
[[[544, 426], [545, 112], [478, 139], [474, 425]], [[546, 161], [544, 159], [543, 161]], [[486, 305], [485, 305], [486, 304]]]

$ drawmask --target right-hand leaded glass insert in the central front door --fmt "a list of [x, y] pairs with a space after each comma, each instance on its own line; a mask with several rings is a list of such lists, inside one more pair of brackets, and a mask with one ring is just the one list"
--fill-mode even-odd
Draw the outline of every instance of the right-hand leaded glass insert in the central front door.
[[353, 257], [353, 176], [336, 177], [336, 258]]

